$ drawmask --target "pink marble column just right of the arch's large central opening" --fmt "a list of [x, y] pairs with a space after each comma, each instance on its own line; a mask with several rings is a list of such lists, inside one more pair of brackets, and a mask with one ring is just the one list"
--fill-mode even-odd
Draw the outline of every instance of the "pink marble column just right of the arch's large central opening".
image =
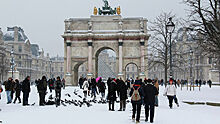
[[123, 75], [123, 41], [119, 39], [118, 42], [119, 47], [119, 63], [118, 63], [118, 75]]

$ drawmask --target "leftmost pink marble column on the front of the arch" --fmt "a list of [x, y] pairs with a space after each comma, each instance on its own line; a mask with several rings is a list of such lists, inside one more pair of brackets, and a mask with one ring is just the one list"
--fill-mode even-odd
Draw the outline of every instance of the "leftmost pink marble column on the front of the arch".
[[66, 45], [67, 45], [67, 74], [71, 74], [71, 40], [70, 38], [67, 39], [66, 41]]

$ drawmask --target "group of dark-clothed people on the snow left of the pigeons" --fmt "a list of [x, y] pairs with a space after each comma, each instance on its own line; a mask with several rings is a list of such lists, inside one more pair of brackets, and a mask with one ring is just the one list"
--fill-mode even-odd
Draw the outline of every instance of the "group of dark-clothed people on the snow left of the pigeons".
[[[5, 86], [5, 92], [7, 95], [7, 104], [11, 104], [14, 100], [14, 104], [18, 100], [18, 103], [23, 103], [23, 106], [29, 106], [29, 94], [31, 92], [31, 78], [27, 76], [23, 81], [19, 81], [18, 79], [13, 80], [11, 77], [8, 78], [7, 81], [3, 83]], [[46, 79], [46, 76], [43, 76], [42, 79], [38, 79], [35, 81], [35, 85], [37, 87], [37, 91], [39, 93], [39, 105], [44, 106], [45, 96], [47, 94], [47, 89], [49, 87], [50, 92], [55, 90], [56, 94], [56, 104], [60, 105], [61, 100], [61, 88], [65, 88], [65, 79], [61, 80], [60, 77], [57, 79]], [[0, 85], [0, 93], [3, 92], [2, 85]], [[21, 101], [21, 92], [23, 93], [23, 101]], [[14, 97], [15, 94], [15, 97]], [[1, 95], [0, 95], [1, 98]], [[14, 98], [14, 99], [13, 99]]]

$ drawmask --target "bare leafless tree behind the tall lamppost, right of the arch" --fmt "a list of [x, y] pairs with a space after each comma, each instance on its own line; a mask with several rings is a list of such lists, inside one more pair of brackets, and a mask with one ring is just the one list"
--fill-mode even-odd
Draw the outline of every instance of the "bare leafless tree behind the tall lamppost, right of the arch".
[[[169, 47], [170, 47], [170, 37], [168, 32], [166, 31], [166, 24], [168, 19], [172, 17], [174, 19], [175, 25], [178, 27], [179, 19], [175, 17], [171, 12], [170, 13], [161, 13], [156, 19], [151, 22], [149, 26], [149, 31], [151, 33], [151, 39], [149, 41], [149, 53], [151, 54], [151, 58], [149, 58], [149, 69], [154, 67], [157, 64], [161, 64], [164, 67], [164, 80], [167, 82], [168, 78], [168, 69], [169, 69]], [[174, 33], [175, 34], [175, 33]], [[173, 35], [174, 36], [174, 35]], [[175, 47], [174, 37], [171, 37], [172, 41], [172, 55], [175, 56], [177, 54], [177, 50]], [[174, 58], [174, 57], [173, 57]], [[173, 64], [176, 63], [176, 59], [173, 59]], [[179, 60], [178, 60], [179, 61]], [[173, 65], [175, 67], [175, 65]], [[177, 67], [177, 66], [176, 66]]]

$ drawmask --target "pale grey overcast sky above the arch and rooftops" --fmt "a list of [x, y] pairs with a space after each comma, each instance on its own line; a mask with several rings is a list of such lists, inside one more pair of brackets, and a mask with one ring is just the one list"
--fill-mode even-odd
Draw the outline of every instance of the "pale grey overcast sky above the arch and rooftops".
[[[121, 6], [123, 17], [153, 20], [162, 11], [186, 17], [182, 0], [108, 0], [112, 7]], [[37, 43], [51, 56], [63, 56], [64, 20], [90, 17], [102, 0], [0, 0], [0, 27], [20, 26], [31, 43]]]

